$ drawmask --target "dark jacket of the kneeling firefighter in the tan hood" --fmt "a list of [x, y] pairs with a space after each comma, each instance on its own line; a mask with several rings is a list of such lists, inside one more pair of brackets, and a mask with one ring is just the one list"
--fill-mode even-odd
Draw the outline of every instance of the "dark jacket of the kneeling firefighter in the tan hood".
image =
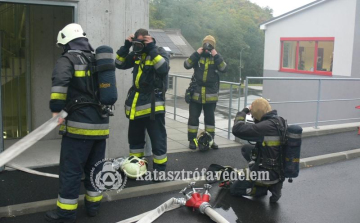
[[277, 111], [272, 110], [266, 113], [259, 122], [255, 124], [245, 124], [248, 108], [238, 112], [232, 133], [241, 139], [255, 141], [257, 150], [256, 161], [259, 162], [260, 171], [269, 171], [270, 181], [264, 184], [275, 184], [282, 178], [282, 147], [281, 137], [276, 124], [271, 121], [277, 117]]

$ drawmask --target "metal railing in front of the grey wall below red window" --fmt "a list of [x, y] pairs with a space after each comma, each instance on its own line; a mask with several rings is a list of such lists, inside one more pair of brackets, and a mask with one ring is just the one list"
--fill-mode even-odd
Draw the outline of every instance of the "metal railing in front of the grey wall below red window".
[[244, 98], [244, 107], [248, 105], [248, 90], [249, 90], [249, 80], [288, 80], [288, 81], [317, 81], [318, 82], [318, 92], [317, 92], [317, 99], [316, 100], [304, 100], [304, 101], [279, 101], [279, 102], [272, 102], [270, 104], [291, 104], [291, 103], [315, 103], [316, 102], [316, 117], [314, 122], [302, 122], [302, 123], [292, 123], [297, 125], [304, 125], [304, 124], [314, 124], [315, 128], [318, 128], [319, 123], [327, 123], [327, 122], [339, 122], [339, 121], [351, 121], [357, 120], [360, 118], [348, 118], [348, 119], [335, 119], [335, 120], [325, 120], [319, 121], [319, 113], [320, 113], [320, 103], [321, 102], [334, 102], [334, 101], [357, 101], [360, 98], [351, 98], [351, 99], [321, 99], [321, 89], [323, 81], [360, 81], [360, 78], [296, 78], [296, 77], [246, 77], [245, 80], [245, 98]]

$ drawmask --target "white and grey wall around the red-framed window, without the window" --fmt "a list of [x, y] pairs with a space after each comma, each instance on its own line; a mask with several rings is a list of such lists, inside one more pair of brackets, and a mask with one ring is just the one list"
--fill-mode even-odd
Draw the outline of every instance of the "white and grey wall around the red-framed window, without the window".
[[[354, 27], [358, 27], [358, 25], [355, 26], [355, 21], [359, 23], [359, 15], [357, 14], [355, 17], [356, 5], [359, 5], [357, 0], [330, 0], [267, 26], [264, 77], [329, 79], [332, 77], [360, 77], [360, 75], [354, 74], [354, 71], [360, 71], [360, 65], [356, 63], [359, 50], [356, 51], [355, 48], [353, 50], [353, 47], [360, 47], [359, 28], [354, 32]], [[279, 72], [280, 37], [335, 37], [333, 76]], [[354, 40], [355, 45], [353, 44]], [[321, 99], [359, 98], [359, 84], [360, 82], [353, 81], [322, 81]], [[271, 99], [272, 102], [316, 100], [318, 98], [318, 82], [264, 81], [263, 97]], [[360, 101], [322, 102], [319, 107], [319, 120], [358, 118], [360, 117], [359, 110], [355, 109], [355, 106], [359, 104]], [[317, 114], [316, 106], [317, 103], [272, 105], [280, 115], [288, 119], [289, 123], [314, 122]], [[319, 125], [326, 124], [320, 123]], [[314, 126], [314, 124], [305, 126]]]

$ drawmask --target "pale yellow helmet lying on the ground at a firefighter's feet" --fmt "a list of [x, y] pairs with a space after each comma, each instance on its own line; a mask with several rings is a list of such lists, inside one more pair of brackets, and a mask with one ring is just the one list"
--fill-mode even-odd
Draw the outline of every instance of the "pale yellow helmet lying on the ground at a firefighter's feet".
[[136, 156], [130, 156], [121, 163], [121, 169], [131, 179], [141, 177], [147, 172], [147, 161]]

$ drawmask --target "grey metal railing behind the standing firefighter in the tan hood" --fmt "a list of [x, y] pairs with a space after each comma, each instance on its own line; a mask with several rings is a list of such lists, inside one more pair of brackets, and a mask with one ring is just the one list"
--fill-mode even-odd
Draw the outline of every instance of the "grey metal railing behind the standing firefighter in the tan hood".
[[[172, 96], [174, 96], [174, 112], [173, 113], [171, 113], [171, 112], [168, 112], [167, 111], [167, 113], [170, 113], [170, 114], [173, 114], [174, 115], [174, 120], [176, 120], [176, 116], [179, 116], [179, 117], [182, 117], [182, 118], [187, 118], [187, 117], [184, 117], [184, 116], [181, 116], [181, 115], [178, 115], [177, 113], [176, 113], [176, 109], [177, 109], [177, 97], [182, 97], [182, 96], [179, 96], [178, 94], [177, 94], [177, 80], [178, 80], [178, 78], [184, 78], [184, 79], [191, 79], [191, 76], [184, 76], [184, 75], [178, 75], [178, 74], [169, 74], [169, 76], [170, 77], [173, 77], [174, 79], [173, 79], [173, 94], [171, 94], [171, 93], [166, 93], [167, 95], [172, 95]], [[230, 134], [231, 134], [231, 120], [232, 120], [232, 118], [231, 118], [231, 116], [232, 116], [232, 110], [234, 110], [235, 108], [232, 108], [232, 99], [233, 99], [233, 86], [239, 86], [239, 91], [238, 91], [238, 96], [239, 96], [239, 98], [238, 98], [238, 108], [236, 108], [236, 111], [238, 111], [239, 110], [239, 106], [240, 106], [240, 89], [241, 89], [241, 83], [236, 83], [236, 82], [228, 82], [228, 81], [220, 81], [220, 83], [221, 84], [229, 84], [230, 85], [230, 89], [229, 89], [229, 91], [230, 91], [230, 97], [229, 97], [229, 106], [223, 106], [223, 105], [219, 105], [219, 104], [217, 104], [216, 105], [216, 107], [221, 107], [221, 108], [226, 108], [226, 109], [229, 109], [228, 111], [229, 111], [229, 114], [228, 114], [228, 130], [227, 130], [227, 132], [228, 132], [228, 139], [230, 139]], [[219, 129], [219, 130], [222, 130], [222, 131], [224, 131], [223, 129], [221, 129], [221, 128], [217, 128], [217, 127], [215, 127], [216, 129]]]

